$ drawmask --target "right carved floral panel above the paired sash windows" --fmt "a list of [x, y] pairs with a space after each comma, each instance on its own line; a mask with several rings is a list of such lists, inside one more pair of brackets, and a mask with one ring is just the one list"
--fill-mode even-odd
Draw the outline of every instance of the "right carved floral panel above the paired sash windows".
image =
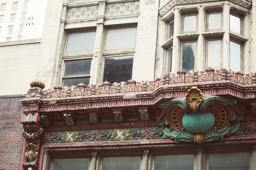
[[139, 10], [139, 1], [106, 4], [105, 15], [136, 14]]

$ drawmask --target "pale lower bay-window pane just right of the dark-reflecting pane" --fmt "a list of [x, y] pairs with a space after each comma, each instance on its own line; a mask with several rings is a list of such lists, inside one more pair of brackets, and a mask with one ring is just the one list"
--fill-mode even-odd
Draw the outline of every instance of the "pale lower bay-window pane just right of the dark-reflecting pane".
[[207, 67], [220, 68], [221, 63], [220, 40], [208, 41], [208, 63]]

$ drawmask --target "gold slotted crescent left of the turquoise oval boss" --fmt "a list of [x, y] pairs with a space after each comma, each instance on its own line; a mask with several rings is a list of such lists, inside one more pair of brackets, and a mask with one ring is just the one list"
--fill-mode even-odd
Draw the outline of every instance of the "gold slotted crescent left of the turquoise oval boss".
[[170, 114], [172, 126], [177, 132], [182, 132], [183, 128], [181, 123], [182, 111], [183, 109], [181, 107], [175, 107]]

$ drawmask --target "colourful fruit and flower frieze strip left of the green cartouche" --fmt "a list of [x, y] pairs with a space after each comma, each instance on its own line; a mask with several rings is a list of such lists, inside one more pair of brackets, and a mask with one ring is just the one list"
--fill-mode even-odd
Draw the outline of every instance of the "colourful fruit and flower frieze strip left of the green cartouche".
[[162, 139], [163, 132], [160, 127], [129, 128], [129, 129], [101, 129], [75, 132], [47, 132], [44, 133], [45, 143], [66, 142], [97, 142], [120, 140]]

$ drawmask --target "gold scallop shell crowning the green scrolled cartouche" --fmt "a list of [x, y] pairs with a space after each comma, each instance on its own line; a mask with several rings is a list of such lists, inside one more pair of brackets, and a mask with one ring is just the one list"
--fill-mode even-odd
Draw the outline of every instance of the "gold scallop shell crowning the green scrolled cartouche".
[[198, 112], [198, 106], [203, 101], [202, 96], [203, 94], [201, 93], [201, 90], [198, 89], [196, 86], [191, 87], [191, 89], [188, 90], [185, 101], [189, 104], [192, 112]]

